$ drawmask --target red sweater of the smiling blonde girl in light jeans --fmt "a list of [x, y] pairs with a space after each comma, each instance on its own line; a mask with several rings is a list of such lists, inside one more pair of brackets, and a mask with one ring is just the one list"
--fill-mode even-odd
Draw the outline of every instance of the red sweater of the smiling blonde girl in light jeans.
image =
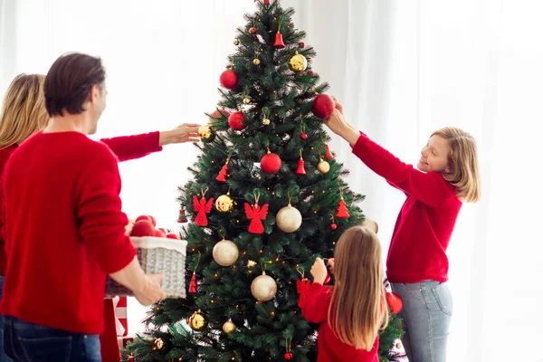
[[388, 280], [447, 281], [445, 252], [462, 207], [454, 186], [439, 173], [424, 173], [405, 164], [363, 133], [353, 153], [407, 196], [388, 249]]

